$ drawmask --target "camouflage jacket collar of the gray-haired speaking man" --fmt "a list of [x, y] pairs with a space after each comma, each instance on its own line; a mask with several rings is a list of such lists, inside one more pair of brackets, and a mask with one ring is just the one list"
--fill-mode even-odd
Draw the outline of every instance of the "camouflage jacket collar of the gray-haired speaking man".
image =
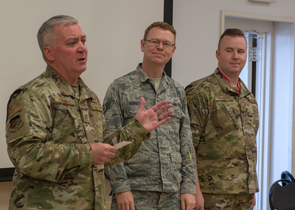
[[[55, 71], [55, 69], [53, 69], [51, 66], [47, 65], [46, 73], [49, 74], [49, 76], [53, 79], [53, 81], [55, 81], [56, 86], [58, 86], [60, 92], [63, 95], [73, 96], [72, 91], [71, 91], [71, 89], [72, 89], [71, 85], [63, 78], [63, 76], [61, 76], [57, 71]], [[84, 81], [80, 77], [78, 78], [78, 80], [79, 80], [79, 85], [80, 85], [81, 96], [83, 98], [92, 97], [89, 94], [89, 89], [85, 85]], [[82, 97], [80, 97], [80, 99], [82, 99]]]

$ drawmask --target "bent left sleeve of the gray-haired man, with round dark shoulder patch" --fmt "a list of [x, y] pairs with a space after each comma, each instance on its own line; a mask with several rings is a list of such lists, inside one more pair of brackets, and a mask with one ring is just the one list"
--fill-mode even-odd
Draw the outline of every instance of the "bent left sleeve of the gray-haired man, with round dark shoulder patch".
[[[48, 99], [49, 100], [49, 99]], [[7, 106], [6, 143], [16, 169], [28, 176], [58, 182], [71, 171], [90, 166], [88, 144], [55, 144], [53, 115], [35, 91], [12, 96]]]

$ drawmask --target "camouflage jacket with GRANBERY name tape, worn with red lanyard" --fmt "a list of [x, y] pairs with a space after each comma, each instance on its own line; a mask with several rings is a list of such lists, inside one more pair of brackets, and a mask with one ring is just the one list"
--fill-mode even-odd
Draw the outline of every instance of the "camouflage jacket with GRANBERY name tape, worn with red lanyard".
[[240, 97], [216, 69], [185, 91], [201, 191], [258, 192], [258, 105], [239, 79]]

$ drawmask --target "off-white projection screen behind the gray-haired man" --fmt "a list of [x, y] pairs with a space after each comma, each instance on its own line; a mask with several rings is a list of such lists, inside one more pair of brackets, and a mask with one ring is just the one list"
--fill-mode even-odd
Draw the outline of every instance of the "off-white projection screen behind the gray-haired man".
[[[102, 101], [114, 79], [135, 70], [142, 62], [140, 40], [151, 23], [163, 21], [163, 8], [163, 0], [1, 1], [0, 168], [13, 167], [5, 137], [9, 96], [45, 71], [36, 37], [44, 21], [59, 14], [78, 19], [88, 46], [87, 70], [81, 76]], [[8, 191], [10, 194], [11, 189], [12, 182], [0, 182], [0, 195]], [[7, 196], [0, 196], [0, 209], [8, 209], [8, 202]]]

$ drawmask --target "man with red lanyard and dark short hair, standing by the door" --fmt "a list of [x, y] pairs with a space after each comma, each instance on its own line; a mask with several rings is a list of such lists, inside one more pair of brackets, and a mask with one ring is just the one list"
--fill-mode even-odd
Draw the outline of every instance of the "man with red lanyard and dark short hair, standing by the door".
[[247, 60], [243, 32], [224, 31], [216, 58], [214, 73], [185, 89], [204, 209], [252, 209], [259, 191], [259, 116], [253, 94], [239, 78]]

